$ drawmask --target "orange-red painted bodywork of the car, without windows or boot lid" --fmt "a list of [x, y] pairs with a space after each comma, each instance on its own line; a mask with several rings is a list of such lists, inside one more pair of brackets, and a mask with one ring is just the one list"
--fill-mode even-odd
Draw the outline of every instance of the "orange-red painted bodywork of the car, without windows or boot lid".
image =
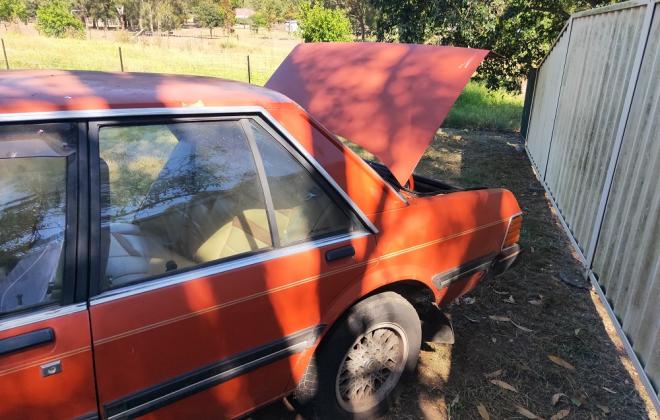
[[[105, 293], [94, 292], [92, 284], [89, 312], [82, 301], [84, 310], [40, 323], [3, 329], [0, 319], [0, 339], [43, 326], [57, 337], [54, 346], [0, 356], [0, 374], [22, 384], [12, 389], [0, 381], [3, 395], [13, 398], [0, 407], [1, 417], [19, 417], [17, 408], [32, 398], [27, 389], [43, 390], [26, 408], [35, 416], [52, 407], [48, 413], [57, 417], [94, 413], [96, 395], [102, 417], [243, 415], [289, 393], [324, 335], [365, 296], [401, 281], [430, 291], [440, 304], [472, 290], [488, 265], [468, 271], [466, 264], [494, 260], [511, 218], [520, 214], [513, 195], [502, 189], [427, 197], [398, 191], [298, 104], [267, 89], [184, 76], [6, 74], [9, 79], [0, 80], [0, 123], [259, 115], [327, 174], [364, 229]], [[98, 159], [98, 151], [90, 153], [92, 161]], [[92, 168], [92, 184], [98, 182], [94, 176]], [[99, 216], [91, 202], [96, 243], [93, 218]], [[348, 245], [353, 256], [326, 260], [327, 251]], [[79, 261], [81, 267], [86, 263], [95, 260]], [[461, 267], [460, 275], [446, 275]], [[451, 281], [439, 289], [438, 276]], [[58, 357], [63, 374], [40, 377], [38, 364]]]

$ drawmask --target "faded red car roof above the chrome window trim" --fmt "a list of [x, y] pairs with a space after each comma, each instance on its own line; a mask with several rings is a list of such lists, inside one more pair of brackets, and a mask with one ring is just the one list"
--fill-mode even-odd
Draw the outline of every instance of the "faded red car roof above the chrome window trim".
[[0, 114], [185, 106], [261, 106], [292, 101], [281, 93], [214, 77], [68, 70], [6, 71]]

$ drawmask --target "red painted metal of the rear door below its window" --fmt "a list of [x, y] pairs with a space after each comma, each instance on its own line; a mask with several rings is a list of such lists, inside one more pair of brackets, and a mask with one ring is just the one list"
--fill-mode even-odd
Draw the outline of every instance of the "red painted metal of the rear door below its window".
[[[353, 258], [325, 261], [326, 250], [347, 244], [355, 249]], [[373, 237], [361, 236], [144, 293], [92, 301], [101, 405], [116, 407], [118, 401], [171, 378], [321, 325], [334, 296], [361, 278], [372, 248]], [[277, 371], [269, 381], [253, 379], [262, 369], [249, 371], [196, 399], [215, 401], [218, 413], [228, 417], [247, 411], [284, 389], [290, 379], [284, 359], [267, 366]]]

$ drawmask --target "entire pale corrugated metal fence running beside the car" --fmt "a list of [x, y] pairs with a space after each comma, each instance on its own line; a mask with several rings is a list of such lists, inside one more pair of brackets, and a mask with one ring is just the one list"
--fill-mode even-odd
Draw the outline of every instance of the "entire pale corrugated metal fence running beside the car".
[[660, 0], [568, 26], [538, 70], [527, 151], [660, 409]]

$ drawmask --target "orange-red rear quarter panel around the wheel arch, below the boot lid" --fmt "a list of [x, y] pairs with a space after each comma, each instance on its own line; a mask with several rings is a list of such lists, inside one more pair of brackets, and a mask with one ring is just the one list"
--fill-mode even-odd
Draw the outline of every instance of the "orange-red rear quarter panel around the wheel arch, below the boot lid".
[[[439, 304], [471, 291], [484, 270], [460, 276], [442, 289], [433, 284], [433, 277], [484, 257], [492, 260], [500, 252], [510, 218], [519, 213], [510, 191], [486, 189], [414, 198], [408, 207], [375, 215], [379, 233], [368, 257], [372, 263], [335, 298], [322, 322], [332, 325], [364, 296], [399, 281], [427, 287]], [[294, 357], [290, 386], [300, 381], [313, 352], [311, 348]]]

